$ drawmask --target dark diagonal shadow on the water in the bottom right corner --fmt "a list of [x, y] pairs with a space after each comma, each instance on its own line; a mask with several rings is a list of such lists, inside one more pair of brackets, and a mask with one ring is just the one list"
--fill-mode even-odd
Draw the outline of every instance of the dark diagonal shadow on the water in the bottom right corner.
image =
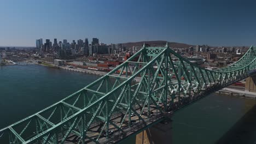
[[217, 143], [256, 143], [256, 105], [220, 137]]

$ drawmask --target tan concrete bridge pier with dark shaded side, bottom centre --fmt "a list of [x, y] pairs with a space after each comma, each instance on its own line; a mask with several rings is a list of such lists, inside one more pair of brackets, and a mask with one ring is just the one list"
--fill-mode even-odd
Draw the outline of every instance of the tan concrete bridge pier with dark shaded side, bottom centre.
[[136, 144], [165, 144], [172, 142], [171, 122], [164, 121], [153, 125], [136, 136]]

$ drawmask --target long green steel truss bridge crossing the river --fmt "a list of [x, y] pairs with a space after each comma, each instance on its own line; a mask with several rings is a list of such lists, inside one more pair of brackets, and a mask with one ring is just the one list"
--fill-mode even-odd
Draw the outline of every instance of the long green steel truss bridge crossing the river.
[[255, 74], [256, 47], [208, 70], [165, 47], [135, 55], [80, 91], [0, 130], [0, 143], [116, 143]]

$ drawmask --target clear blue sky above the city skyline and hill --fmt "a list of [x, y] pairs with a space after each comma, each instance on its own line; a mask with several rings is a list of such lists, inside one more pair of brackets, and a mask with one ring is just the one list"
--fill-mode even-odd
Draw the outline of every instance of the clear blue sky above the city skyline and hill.
[[106, 44], [256, 45], [256, 1], [0, 0], [2, 46], [92, 37]]

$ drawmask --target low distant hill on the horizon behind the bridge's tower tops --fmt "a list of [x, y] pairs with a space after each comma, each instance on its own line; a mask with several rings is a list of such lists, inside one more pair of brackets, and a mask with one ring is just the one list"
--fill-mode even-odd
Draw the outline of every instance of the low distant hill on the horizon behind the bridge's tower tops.
[[[165, 46], [166, 41], [163, 40], [155, 40], [155, 41], [138, 41], [133, 43], [123, 43], [123, 46], [126, 46], [126, 48], [131, 48], [132, 46], [142, 46], [143, 44], [149, 44], [150, 46]], [[188, 44], [182, 44], [182, 43], [173, 43], [168, 42], [169, 47], [177, 47], [177, 48], [187, 48], [194, 45], [188, 45]]]

